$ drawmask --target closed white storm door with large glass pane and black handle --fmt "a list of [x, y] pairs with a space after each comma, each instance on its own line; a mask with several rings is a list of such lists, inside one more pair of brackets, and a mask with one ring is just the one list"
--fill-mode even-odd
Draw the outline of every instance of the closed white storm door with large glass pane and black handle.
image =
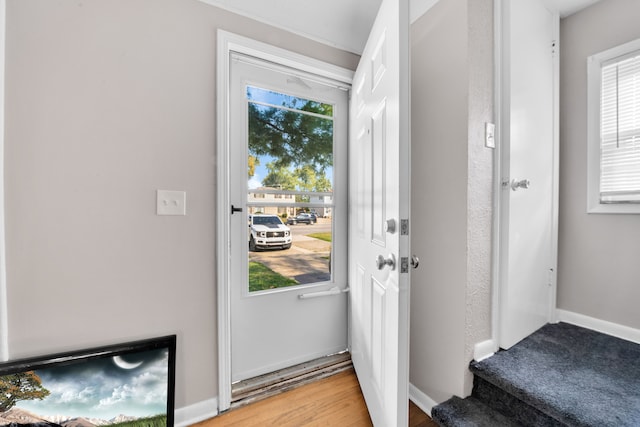
[[232, 53], [229, 101], [235, 382], [347, 349], [348, 87]]

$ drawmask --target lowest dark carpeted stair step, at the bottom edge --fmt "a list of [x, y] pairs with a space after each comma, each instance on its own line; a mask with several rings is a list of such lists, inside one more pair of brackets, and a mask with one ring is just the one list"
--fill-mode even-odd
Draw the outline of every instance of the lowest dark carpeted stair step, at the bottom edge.
[[431, 416], [442, 427], [520, 426], [475, 397], [453, 397], [436, 406]]

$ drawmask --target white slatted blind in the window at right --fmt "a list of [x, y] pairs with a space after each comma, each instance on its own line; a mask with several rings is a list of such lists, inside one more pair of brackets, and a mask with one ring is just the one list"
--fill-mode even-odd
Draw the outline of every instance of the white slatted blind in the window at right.
[[640, 51], [601, 75], [600, 203], [640, 203]]

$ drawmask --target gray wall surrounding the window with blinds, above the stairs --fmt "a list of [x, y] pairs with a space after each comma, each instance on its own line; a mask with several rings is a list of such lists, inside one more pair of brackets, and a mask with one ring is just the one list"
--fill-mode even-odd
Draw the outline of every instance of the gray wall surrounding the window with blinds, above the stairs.
[[587, 57], [640, 37], [640, 2], [603, 0], [560, 25], [558, 308], [640, 328], [640, 215], [586, 213]]

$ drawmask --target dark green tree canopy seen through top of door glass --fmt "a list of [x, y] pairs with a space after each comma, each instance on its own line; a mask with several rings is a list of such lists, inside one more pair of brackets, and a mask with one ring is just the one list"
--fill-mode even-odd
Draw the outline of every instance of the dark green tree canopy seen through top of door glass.
[[249, 156], [271, 156], [276, 169], [309, 166], [323, 173], [333, 165], [333, 107], [290, 96], [282, 99], [285, 108], [249, 102]]

